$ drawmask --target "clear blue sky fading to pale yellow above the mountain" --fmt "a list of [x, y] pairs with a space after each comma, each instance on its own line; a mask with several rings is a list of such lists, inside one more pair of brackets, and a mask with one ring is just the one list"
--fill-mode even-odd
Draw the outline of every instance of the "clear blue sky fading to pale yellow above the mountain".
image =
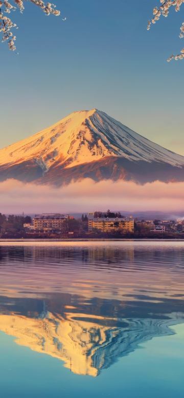
[[10, 14], [19, 55], [0, 45], [0, 147], [97, 108], [184, 155], [184, 60], [167, 62], [184, 46], [184, 5], [147, 31], [159, 0], [53, 1], [60, 17], [30, 2]]

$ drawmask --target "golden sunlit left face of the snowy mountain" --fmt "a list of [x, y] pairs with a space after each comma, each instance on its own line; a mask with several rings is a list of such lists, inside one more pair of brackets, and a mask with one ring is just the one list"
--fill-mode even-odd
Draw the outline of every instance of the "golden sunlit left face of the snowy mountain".
[[83, 138], [85, 139], [85, 134], [88, 133], [85, 120], [89, 120], [89, 117], [96, 112], [96, 109], [73, 112], [55, 125], [3, 148], [0, 150], [0, 165], [19, 163], [34, 158], [43, 171], [47, 171], [58, 159], [61, 159], [61, 162], [70, 159], [68, 163], [78, 164], [89, 160], [90, 151], [86, 151], [84, 147], [81, 150], [81, 142], [83, 143]]

